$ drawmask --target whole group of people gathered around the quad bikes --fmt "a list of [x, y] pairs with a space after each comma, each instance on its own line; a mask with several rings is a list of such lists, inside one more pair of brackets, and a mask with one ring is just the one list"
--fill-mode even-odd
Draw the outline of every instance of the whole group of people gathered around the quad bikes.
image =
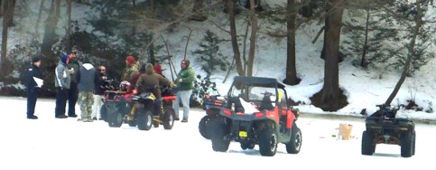
[[[27, 118], [37, 119], [34, 109], [38, 93], [42, 86], [42, 71], [39, 70], [41, 59], [34, 57], [32, 65], [26, 70], [26, 92], [27, 92]], [[183, 117], [181, 122], [188, 122], [190, 112], [190, 95], [192, 94], [195, 72], [190, 67], [190, 61], [181, 61], [181, 71], [172, 82], [162, 75], [162, 68], [159, 63], [153, 65], [146, 63], [139, 66], [134, 56], [125, 58], [125, 70], [121, 80], [128, 82], [129, 88], [137, 88], [139, 92], [148, 90], [156, 97], [155, 109], [161, 110], [162, 91], [160, 87], [172, 86], [177, 89], [176, 100], [173, 102], [176, 120], [180, 120], [179, 106], [183, 106]], [[107, 81], [106, 67], [103, 65], [96, 68], [87, 58], [81, 63], [77, 58], [77, 51], [71, 51], [68, 55], [62, 54], [55, 70], [56, 106], [55, 118], [77, 118], [75, 106], [79, 103], [79, 121], [92, 122], [101, 119], [99, 110], [102, 106], [101, 99], [105, 92], [104, 86]], [[39, 82], [41, 80], [41, 82]], [[68, 102], [68, 110], [67, 108]]]

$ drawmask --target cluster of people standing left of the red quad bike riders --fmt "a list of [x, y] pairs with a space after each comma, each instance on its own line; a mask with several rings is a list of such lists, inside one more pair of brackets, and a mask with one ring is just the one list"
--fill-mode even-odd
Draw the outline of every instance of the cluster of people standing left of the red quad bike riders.
[[[42, 80], [40, 65], [41, 59], [34, 57], [31, 67], [26, 70], [27, 118], [29, 119], [38, 118], [34, 115], [34, 109], [41, 89], [41, 85], [37, 83], [38, 79]], [[92, 120], [97, 120], [97, 116], [101, 119], [99, 115], [102, 105], [101, 98], [106, 90], [101, 85], [106, 80], [105, 66], [99, 66], [96, 71], [87, 58], [79, 63], [77, 51], [71, 51], [68, 55], [62, 54], [55, 69], [55, 118], [77, 118], [76, 104], [79, 103], [81, 111], [79, 121], [92, 122]]]

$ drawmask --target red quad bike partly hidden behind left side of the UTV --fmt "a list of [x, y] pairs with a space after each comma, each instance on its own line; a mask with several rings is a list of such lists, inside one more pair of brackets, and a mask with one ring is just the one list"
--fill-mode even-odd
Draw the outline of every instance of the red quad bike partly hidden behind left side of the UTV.
[[219, 111], [227, 102], [227, 100], [219, 94], [210, 95], [209, 93], [206, 93], [201, 102], [203, 110], [206, 111], [206, 116], [199, 120], [199, 134], [202, 137], [210, 139], [209, 134], [212, 132], [209, 127], [209, 122], [214, 118], [220, 117]]

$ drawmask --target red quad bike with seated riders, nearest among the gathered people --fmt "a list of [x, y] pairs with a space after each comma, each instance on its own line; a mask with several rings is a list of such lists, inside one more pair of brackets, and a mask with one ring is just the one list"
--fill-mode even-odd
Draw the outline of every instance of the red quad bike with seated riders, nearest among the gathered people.
[[135, 120], [140, 130], [150, 130], [153, 127], [163, 125], [164, 129], [172, 129], [175, 120], [175, 111], [172, 109], [172, 101], [176, 99], [171, 90], [162, 90], [162, 104], [159, 109], [154, 108], [156, 98], [152, 92], [143, 92], [139, 96], [133, 96], [135, 102], [131, 114], [125, 118]]

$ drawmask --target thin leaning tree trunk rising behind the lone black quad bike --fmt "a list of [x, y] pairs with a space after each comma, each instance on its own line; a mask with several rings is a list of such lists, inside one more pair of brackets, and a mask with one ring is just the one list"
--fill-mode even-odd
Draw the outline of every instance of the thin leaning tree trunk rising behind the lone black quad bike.
[[409, 68], [412, 62], [412, 58], [415, 55], [415, 42], [416, 39], [418, 37], [418, 34], [420, 33], [420, 29], [422, 27], [423, 21], [422, 21], [422, 9], [421, 9], [421, 2], [420, 1], [416, 1], [416, 12], [418, 14], [415, 15], [415, 26], [413, 29], [413, 37], [411, 42], [408, 45], [408, 55], [407, 55], [407, 61], [404, 63], [404, 70], [403, 73], [401, 74], [401, 78], [400, 80], [398, 80], [398, 82], [395, 85], [394, 90], [392, 91], [391, 95], [389, 95], [389, 98], [386, 99], [385, 105], [389, 106], [391, 105], [392, 101], [394, 100], [396, 94], [398, 93], [398, 91], [400, 90], [401, 86], [404, 83], [405, 77], [407, 75], [407, 73], [409, 72]]

